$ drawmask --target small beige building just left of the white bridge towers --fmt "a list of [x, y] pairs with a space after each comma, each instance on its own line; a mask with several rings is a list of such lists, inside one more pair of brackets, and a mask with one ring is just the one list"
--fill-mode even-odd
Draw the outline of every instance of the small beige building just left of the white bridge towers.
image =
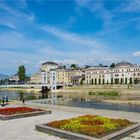
[[41, 84], [41, 73], [38, 72], [38, 73], [35, 73], [31, 76], [31, 80], [30, 80], [30, 83], [31, 84]]

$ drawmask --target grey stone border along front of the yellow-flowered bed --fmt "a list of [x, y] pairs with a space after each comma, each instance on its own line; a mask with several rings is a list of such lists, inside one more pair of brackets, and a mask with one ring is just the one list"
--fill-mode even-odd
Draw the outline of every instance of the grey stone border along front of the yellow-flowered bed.
[[120, 131], [114, 132], [110, 135], [107, 135], [105, 137], [98, 139], [98, 138], [94, 138], [94, 137], [90, 137], [90, 136], [86, 136], [86, 135], [82, 135], [82, 134], [77, 134], [77, 133], [73, 133], [73, 132], [68, 132], [68, 131], [48, 127], [48, 126], [45, 126], [44, 124], [35, 126], [36, 130], [38, 130], [38, 131], [45, 132], [47, 134], [51, 134], [51, 135], [58, 136], [61, 138], [71, 139], [71, 140], [72, 139], [73, 140], [119, 140], [119, 139], [137, 131], [139, 129], [139, 127], [140, 127], [140, 124], [134, 124], [127, 128], [124, 128]]

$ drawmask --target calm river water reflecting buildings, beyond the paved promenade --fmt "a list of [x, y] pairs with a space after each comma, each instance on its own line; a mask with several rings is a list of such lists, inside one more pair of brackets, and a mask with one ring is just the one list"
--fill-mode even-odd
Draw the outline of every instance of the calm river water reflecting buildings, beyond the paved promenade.
[[[61, 94], [58, 96], [56, 93], [49, 96], [45, 96], [41, 93], [36, 95], [32, 93], [23, 93], [23, 92], [11, 92], [11, 91], [0, 91], [0, 98], [8, 96], [9, 99], [21, 100], [23, 97], [27, 100], [30, 99], [38, 99], [34, 100], [37, 103], [43, 104], [57, 104], [64, 106], [73, 106], [73, 107], [83, 107], [83, 108], [95, 108], [95, 109], [106, 109], [106, 110], [116, 110], [116, 111], [128, 111], [128, 112], [139, 112], [140, 113], [140, 105], [131, 105], [131, 104], [111, 104], [111, 103], [103, 103], [100, 101], [95, 101], [92, 98], [88, 98], [88, 96], [71, 96], [70, 94]], [[42, 98], [45, 98], [42, 100]], [[40, 100], [41, 99], [41, 100]], [[53, 102], [50, 102], [53, 100]]]

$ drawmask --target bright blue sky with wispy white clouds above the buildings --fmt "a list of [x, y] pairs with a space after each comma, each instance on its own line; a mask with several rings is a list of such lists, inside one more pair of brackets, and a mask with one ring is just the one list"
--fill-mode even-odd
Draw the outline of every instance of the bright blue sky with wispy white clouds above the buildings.
[[0, 0], [0, 73], [45, 61], [140, 64], [140, 0]]

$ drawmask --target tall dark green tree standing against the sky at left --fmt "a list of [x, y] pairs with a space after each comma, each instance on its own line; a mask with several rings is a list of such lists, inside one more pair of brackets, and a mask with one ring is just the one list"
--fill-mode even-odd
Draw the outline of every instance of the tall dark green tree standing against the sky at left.
[[24, 65], [18, 67], [18, 77], [20, 81], [24, 81], [26, 78], [26, 69]]

